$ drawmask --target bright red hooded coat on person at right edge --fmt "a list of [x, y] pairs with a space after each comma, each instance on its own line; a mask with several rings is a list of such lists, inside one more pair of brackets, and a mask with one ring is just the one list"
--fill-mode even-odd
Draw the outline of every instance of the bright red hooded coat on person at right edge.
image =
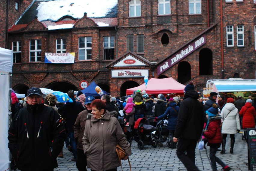
[[251, 105], [251, 103], [247, 102], [245, 106], [239, 112], [239, 115], [243, 117], [242, 126], [245, 128], [255, 128], [255, 117], [256, 112], [255, 108]]

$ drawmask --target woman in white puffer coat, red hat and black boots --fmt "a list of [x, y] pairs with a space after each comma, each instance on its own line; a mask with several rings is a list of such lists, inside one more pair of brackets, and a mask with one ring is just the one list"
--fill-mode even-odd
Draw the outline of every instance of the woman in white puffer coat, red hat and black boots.
[[233, 153], [234, 144], [235, 144], [235, 134], [240, 131], [240, 120], [238, 109], [234, 105], [234, 99], [228, 98], [227, 104], [221, 110], [222, 119], [222, 150], [221, 154], [225, 154], [226, 138], [227, 134], [230, 134], [230, 153]]

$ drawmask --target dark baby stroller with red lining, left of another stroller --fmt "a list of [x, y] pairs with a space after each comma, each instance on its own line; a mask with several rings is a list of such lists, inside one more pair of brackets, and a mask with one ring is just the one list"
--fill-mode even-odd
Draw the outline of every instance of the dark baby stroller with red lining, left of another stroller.
[[[152, 118], [148, 118], [152, 119]], [[147, 125], [147, 118], [139, 118], [133, 129], [133, 140], [138, 143], [138, 148], [143, 149], [145, 145], [152, 145], [154, 148], [157, 147], [157, 143], [160, 141], [159, 138], [152, 132], [156, 131], [157, 128], [152, 125]]]

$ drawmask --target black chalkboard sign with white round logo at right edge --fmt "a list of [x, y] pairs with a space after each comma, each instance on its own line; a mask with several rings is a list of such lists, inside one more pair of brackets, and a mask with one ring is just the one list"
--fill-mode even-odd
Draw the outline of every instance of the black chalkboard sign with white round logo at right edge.
[[249, 169], [253, 171], [253, 165], [256, 164], [256, 129], [247, 129], [248, 138], [248, 165]]

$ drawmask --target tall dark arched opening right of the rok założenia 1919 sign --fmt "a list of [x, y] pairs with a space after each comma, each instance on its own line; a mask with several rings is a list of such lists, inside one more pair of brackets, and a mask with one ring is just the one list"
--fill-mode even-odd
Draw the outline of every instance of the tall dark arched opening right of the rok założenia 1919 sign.
[[199, 52], [199, 75], [212, 74], [212, 50], [203, 48]]

